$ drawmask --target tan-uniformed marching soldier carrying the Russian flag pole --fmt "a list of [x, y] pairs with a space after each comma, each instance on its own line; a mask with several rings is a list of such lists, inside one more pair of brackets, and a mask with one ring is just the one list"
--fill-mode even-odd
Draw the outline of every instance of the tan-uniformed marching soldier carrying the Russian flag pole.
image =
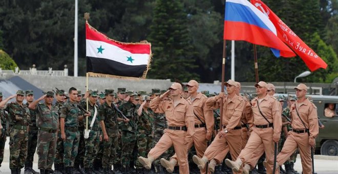
[[[227, 147], [229, 148], [231, 158], [236, 160], [241, 152], [242, 144], [242, 126], [241, 119], [245, 108], [245, 101], [242, 97], [236, 95], [236, 83], [234, 80], [225, 82], [228, 95], [220, 93], [218, 96], [208, 98], [206, 104], [209, 108], [217, 109], [220, 107], [221, 98], [223, 98], [223, 117], [222, 130], [217, 134], [212, 144], [205, 150], [203, 158], [194, 156], [193, 160], [198, 168], [205, 168], [205, 164], [215, 158]], [[234, 171], [234, 172], [238, 172]]]

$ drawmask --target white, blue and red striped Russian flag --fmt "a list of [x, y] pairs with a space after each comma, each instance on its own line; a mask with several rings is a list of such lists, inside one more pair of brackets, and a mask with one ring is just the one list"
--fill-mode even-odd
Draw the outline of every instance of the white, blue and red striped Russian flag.
[[245, 40], [270, 47], [276, 57], [294, 57], [293, 51], [277, 37], [269, 18], [247, 0], [226, 0], [224, 39]]

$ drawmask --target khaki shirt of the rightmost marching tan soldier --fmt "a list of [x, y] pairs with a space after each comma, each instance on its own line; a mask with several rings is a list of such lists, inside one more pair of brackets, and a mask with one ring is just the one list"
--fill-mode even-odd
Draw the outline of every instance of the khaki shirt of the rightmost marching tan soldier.
[[[305, 127], [298, 117], [296, 109], [299, 116], [302, 118]], [[310, 138], [317, 137], [319, 134], [317, 107], [310, 100], [305, 99], [302, 103], [298, 103], [298, 101], [294, 102], [291, 105], [290, 113], [292, 116], [292, 129], [303, 130], [306, 128], [310, 131]]]

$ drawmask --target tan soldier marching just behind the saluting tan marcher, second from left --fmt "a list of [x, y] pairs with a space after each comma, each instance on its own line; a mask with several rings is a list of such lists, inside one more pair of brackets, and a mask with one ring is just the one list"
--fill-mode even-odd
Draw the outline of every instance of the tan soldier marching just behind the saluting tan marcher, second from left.
[[[194, 144], [197, 156], [202, 158], [207, 148], [207, 141], [212, 137], [215, 122], [214, 113], [206, 106], [205, 102], [208, 98], [202, 93], [197, 93], [199, 84], [196, 80], [190, 80], [186, 86], [190, 94], [187, 101], [193, 104], [195, 116], [195, 134], [192, 141], [188, 142], [187, 149], [191, 149]], [[176, 154], [170, 161], [162, 158], [161, 164], [168, 172], [172, 173], [177, 164]], [[201, 170], [201, 173], [205, 173], [205, 168]]]

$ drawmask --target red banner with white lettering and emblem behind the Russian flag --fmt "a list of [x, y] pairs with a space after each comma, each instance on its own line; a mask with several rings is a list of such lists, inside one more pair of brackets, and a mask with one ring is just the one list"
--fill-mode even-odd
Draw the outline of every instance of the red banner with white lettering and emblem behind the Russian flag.
[[288, 45], [305, 62], [313, 72], [319, 68], [326, 69], [327, 63], [319, 57], [304, 41], [299, 38], [269, 7], [260, 0], [250, 0], [258, 10], [265, 14], [277, 29], [277, 36]]

